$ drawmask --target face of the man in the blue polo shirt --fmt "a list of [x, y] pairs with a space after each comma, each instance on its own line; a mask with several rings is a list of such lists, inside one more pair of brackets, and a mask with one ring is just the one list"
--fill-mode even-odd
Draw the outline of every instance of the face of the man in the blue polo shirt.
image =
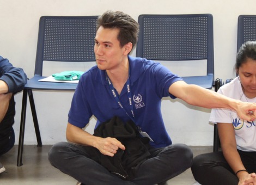
[[94, 53], [96, 64], [101, 70], [113, 70], [118, 68], [127, 58], [125, 47], [120, 47], [117, 39], [119, 29], [100, 27], [95, 36]]

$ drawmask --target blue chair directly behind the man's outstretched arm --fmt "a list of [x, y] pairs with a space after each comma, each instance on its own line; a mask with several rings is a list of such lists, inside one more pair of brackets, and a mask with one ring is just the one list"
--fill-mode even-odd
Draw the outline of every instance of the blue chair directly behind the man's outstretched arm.
[[188, 84], [211, 89], [214, 83], [214, 36], [211, 14], [139, 15], [136, 57], [158, 61], [202, 61], [203, 76], [182, 77]]

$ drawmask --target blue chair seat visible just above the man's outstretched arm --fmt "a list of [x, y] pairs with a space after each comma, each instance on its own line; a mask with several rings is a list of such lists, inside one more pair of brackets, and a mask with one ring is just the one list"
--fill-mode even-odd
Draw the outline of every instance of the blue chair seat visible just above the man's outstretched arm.
[[196, 84], [200, 87], [211, 89], [214, 75], [182, 77], [187, 84]]

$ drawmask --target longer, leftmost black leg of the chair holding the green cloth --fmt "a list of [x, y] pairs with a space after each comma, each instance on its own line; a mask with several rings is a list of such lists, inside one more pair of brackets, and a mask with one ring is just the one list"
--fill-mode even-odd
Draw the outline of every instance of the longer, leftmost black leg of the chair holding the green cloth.
[[17, 157], [17, 166], [22, 166], [22, 153], [24, 144], [25, 121], [26, 121], [26, 108], [27, 108], [27, 94], [28, 90], [23, 89], [22, 106], [21, 106], [21, 124], [20, 124], [20, 137], [19, 137], [19, 150]]

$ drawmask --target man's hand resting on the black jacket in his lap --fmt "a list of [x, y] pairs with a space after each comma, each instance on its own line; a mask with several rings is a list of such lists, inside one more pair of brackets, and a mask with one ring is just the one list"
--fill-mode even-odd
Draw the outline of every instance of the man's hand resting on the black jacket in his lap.
[[125, 146], [115, 138], [101, 138], [96, 148], [103, 154], [113, 157], [118, 149], [125, 150]]

